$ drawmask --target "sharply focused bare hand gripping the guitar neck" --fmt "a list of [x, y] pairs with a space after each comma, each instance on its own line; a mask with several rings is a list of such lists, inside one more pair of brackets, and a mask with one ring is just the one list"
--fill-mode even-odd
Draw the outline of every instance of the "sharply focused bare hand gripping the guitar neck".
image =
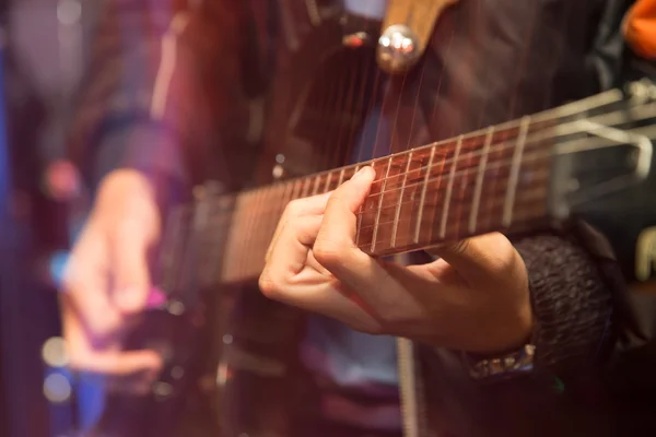
[[290, 202], [267, 251], [262, 293], [362, 332], [478, 353], [523, 345], [532, 328], [528, 279], [507, 238], [442, 247], [423, 265], [373, 258], [355, 235], [374, 177], [364, 167], [333, 192]]

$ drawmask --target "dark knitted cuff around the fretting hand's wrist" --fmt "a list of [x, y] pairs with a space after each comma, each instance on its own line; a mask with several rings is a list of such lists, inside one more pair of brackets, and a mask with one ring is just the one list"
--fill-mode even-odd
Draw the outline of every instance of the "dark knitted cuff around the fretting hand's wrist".
[[529, 276], [537, 320], [536, 365], [551, 371], [587, 367], [611, 342], [614, 287], [611, 259], [574, 234], [542, 234], [515, 243]]

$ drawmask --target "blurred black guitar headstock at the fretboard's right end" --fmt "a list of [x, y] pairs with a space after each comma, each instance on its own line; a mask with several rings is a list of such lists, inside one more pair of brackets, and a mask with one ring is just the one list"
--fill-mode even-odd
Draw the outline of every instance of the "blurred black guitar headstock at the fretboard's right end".
[[656, 85], [630, 83], [623, 98], [554, 128], [550, 209], [579, 217], [613, 246], [630, 280], [656, 277]]

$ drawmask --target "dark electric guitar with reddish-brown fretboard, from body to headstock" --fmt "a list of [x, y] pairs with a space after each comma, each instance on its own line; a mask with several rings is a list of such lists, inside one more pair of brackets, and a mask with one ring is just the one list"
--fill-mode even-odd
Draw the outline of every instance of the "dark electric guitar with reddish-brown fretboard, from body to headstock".
[[[296, 157], [265, 151], [260, 174], [272, 175], [273, 184], [231, 193], [210, 181], [194, 190], [192, 203], [169, 214], [154, 271], [153, 295], [163, 298], [153, 299], [150, 323], [130, 344], [163, 351], [167, 367], [148, 397], [117, 394], [98, 428], [120, 429], [122, 436], [171, 435], [167, 420], [183, 410], [203, 417], [206, 429], [221, 428], [230, 437], [246, 433], [238, 422], [255, 423], [249, 435], [283, 427], [278, 417], [288, 408], [290, 375], [297, 370], [284, 357], [301, 335], [298, 315], [265, 302], [253, 285], [285, 205], [333, 190], [364, 165], [376, 170], [376, 181], [359, 213], [358, 245], [372, 256], [494, 231], [515, 238], [581, 218], [609, 238], [629, 280], [646, 283], [655, 276], [649, 229], [656, 225], [656, 88], [651, 82], [340, 166], [356, 142], [353, 126], [362, 126], [372, 111], [367, 102], [378, 92], [375, 69], [353, 74], [339, 67], [371, 63], [359, 51], [367, 33], [358, 31], [367, 26], [352, 19], [326, 21], [298, 49], [309, 59], [309, 51], [323, 47], [314, 43], [335, 34], [353, 48], [328, 50], [306, 66], [320, 86], [307, 86], [297, 66], [289, 67], [289, 87], [278, 91], [282, 109], [269, 123], [292, 126], [293, 134], [268, 129], [266, 141], [285, 144]], [[293, 45], [294, 29], [285, 35]], [[340, 74], [343, 80], [329, 82]], [[317, 144], [325, 145], [321, 152], [309, 153]], [[314, 173], [303, 175], [308, 168]], [[246, 306], [255, 310], [243, 311]], [[262, 327], [265, 315], [274, 322]], [[245, 326], [257, 327], [253, 331], [259, 335], [244, 333]], [[253, 399], [247, 411], [230, 402], [229, 394], [244, 393]]]

